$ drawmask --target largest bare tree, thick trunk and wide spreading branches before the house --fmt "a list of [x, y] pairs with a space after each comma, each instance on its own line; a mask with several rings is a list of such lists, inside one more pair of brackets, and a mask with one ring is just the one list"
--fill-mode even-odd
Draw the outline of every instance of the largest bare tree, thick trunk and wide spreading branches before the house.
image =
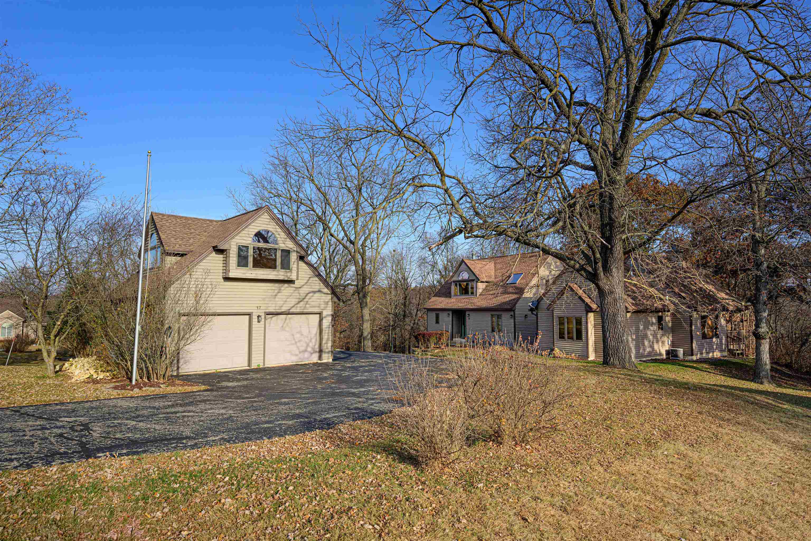
[[[615, 367], [635, 367], [629, 255], [731, 187], [697, 182], [720, 178], [706, 171], [730, 144], [704, 121], [747, 114], [760, 85], [809, 98], [809, 17], [796, 1], [389, 0], [380, 27], [359, 45], [305, 27], [325, 54], [315, 69], [366, 115], [354, 136], [397, 137], [431, 167], [418, 186], [453, 217], [440, 242], [511, 238], [594, 284]], [[429, 92], [438, 71], [449, 82]], [[467, 121], [472, 172], [450, 157]], [[638, 200], [628, 184], [645, 174], [682, 195]]]

